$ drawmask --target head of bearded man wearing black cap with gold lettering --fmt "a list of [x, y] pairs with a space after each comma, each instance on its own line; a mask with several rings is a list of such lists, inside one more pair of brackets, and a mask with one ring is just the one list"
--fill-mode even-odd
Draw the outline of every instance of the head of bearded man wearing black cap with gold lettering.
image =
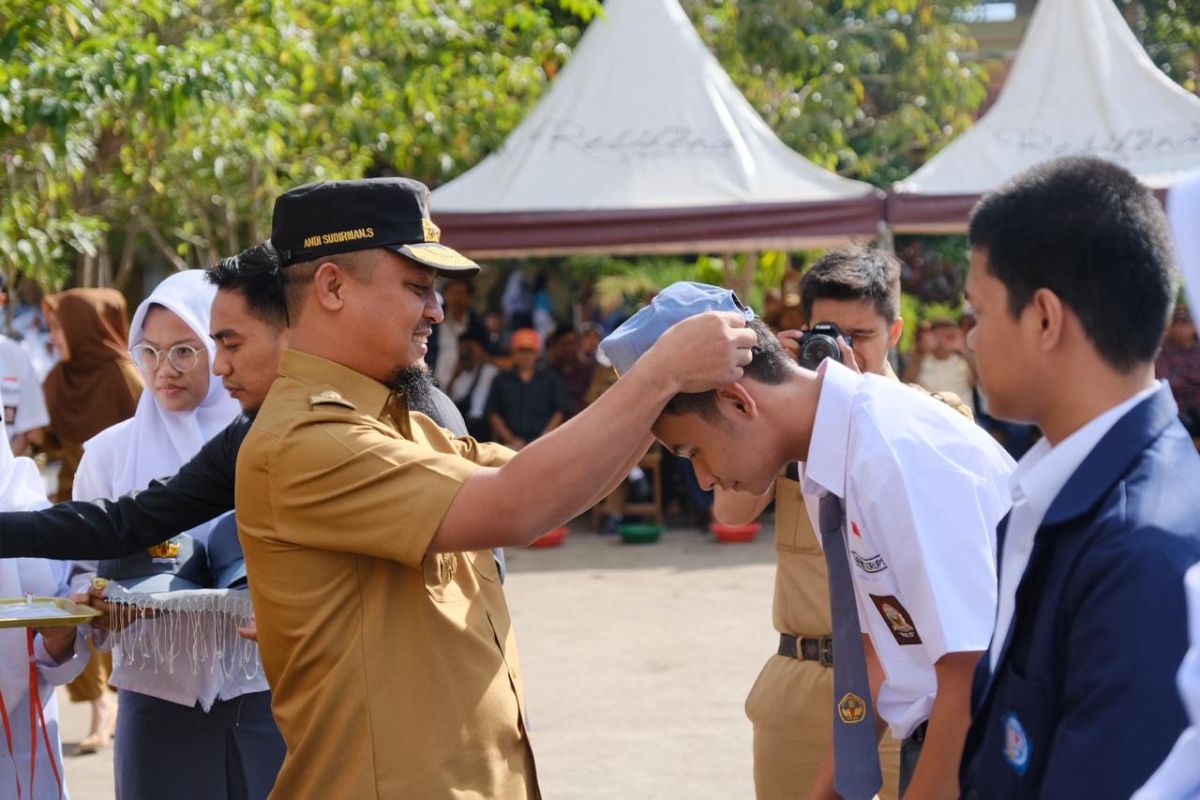
[[292, 343], [401, 391], [426, 377], [424, 357], [443, 312], [437, 275], [479, 265], [438, 243], [428, 190], [401, 178], [328, 181], [275, 203]]

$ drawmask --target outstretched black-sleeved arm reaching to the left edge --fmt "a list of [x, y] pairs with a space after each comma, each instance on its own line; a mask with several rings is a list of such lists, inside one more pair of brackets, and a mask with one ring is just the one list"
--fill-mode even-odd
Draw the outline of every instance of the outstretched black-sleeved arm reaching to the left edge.
[[238, 449], [251, 422], [238, 417], [179, 473], [145, 489], [0, 513], [0, 558], [121, 558], [233, 510]]

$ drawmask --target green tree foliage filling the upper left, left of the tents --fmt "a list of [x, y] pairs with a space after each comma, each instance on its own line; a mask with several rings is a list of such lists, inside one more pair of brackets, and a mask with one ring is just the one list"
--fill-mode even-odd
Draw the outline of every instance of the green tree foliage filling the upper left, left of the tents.
[[0, 269], [122, 283], [268, 233], [301, 181], [494, 150], [599, 0], [8, 0]]

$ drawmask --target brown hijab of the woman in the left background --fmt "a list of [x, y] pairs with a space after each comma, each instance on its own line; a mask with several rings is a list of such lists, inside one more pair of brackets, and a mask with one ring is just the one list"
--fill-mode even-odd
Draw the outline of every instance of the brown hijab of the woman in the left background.
[[70, 350], [43, 385], [50, 427], [61, 440], [84, 443], [133, 416], [142, 395], [125, 297], [115, 289], [68, 289], [42, 305], [47, 317], [58, 317]]

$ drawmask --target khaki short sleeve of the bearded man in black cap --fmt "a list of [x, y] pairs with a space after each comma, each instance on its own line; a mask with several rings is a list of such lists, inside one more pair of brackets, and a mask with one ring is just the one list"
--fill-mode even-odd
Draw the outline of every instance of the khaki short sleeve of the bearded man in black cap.
[[271, 459], [276, 536], [419, 566], [479, 464], [361, 420], [314, 422], [280, 440]]

